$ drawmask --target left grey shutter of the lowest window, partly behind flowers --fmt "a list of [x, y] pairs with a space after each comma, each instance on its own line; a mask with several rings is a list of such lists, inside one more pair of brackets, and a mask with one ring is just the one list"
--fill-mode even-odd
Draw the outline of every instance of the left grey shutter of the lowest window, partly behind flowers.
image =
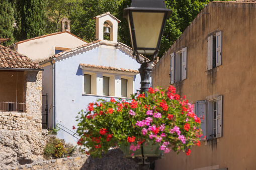
[[204, 136], [206, 136], [206, 100], [196, 101], [195, 114], [201, 119], [201, 129], [203, 135], [200, 137], [200, 140], [204, 140]]

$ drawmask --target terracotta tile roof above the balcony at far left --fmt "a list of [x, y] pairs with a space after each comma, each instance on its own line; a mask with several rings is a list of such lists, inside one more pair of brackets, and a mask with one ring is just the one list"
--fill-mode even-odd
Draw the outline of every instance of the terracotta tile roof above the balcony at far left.
[[42, 69], [30, 58], [0, 45], [0, 68]]

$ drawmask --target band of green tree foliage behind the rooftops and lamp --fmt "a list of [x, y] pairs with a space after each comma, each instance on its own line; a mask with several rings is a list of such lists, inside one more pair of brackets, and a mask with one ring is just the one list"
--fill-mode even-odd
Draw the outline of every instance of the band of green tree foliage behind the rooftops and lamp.
[[[224, 0], [219, 0], [224, 1]], [[226, 0], [225, 0], [226, 1]], [[60, 31], [60, 21], [70, 20], [71, 33], [88, 42], [95, 41], [94, 17], [110, 12], [118, 18], [118, 41], [131, 47], [127, 20], [123, 10], [131, 0], [2, 0], [0, 5], [0, 36], [21, 41]], [[158, 56], [179, 38], [209, 0], [166, 0], [173, 10], [166, 21]], [[17, 23], [13, 28], [14, 19]]]

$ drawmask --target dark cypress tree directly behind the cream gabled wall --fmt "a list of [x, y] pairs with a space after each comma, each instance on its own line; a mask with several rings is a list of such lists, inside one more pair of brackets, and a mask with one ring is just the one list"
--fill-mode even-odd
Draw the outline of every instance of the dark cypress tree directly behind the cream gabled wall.
[[18, 41], [45, 34], [45, 1], [16, 0]]

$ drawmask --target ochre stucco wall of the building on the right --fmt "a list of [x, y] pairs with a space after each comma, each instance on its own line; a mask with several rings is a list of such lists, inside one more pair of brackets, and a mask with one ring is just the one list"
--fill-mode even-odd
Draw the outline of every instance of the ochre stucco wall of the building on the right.
[[[205, 14], [209, 13], [209, 14]], [[153, 86], [169, 86], [170, 53], [188, 47], [187, 79], [175, 83], [190, 103], [223, 95], [222, 137], [171, 151], [155, 169], [255, 169], [256, 4], [210, 2], [153, 68]], [[207, 71], [207, 37], [222, 31], [222, 65]], [[208, 142], [209, 143], [209, 142]], [[207, 168], [210, 166], [209, 168]], [[205, 167], [205, 168], [204, 168]]]

